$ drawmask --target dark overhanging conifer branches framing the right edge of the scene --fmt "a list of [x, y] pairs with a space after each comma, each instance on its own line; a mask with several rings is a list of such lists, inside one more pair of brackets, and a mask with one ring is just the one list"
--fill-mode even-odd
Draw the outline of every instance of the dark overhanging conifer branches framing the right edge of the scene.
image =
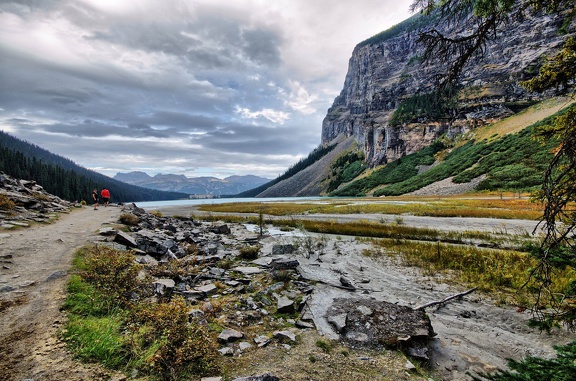
[[[524, 12], [548, 12], [564, 18], [559, 33], [573, 25], [574, 0], [415, 0], [413, 11], [437, 15], [436, 24], [422, 31], [419, 41], [425, 47], [425, 60], [448, 63], [447, 70], [437, 78], [438, 93], [446, 87], [457, 88], [460, 75], [472, 58], [481, 58], [488, 42], [500, 36], [512, 16]], [[450, 32], [442, 33], [440, 24]], [[446, 29], [443, 29], [446, 30]], [[575, 97], [576, 39], [567, 36], [558, 54], [545, 59], [538, 75], [522, 83], [530, 91], [555, 92]], [[545, 236], [532, 255], [539, 260], [529, 275], [526, 287], [535, 290], [533, 324], [546, 330], [559, 324], [576, 328], [576, 278], [564, 292], [554, 294], [550, 285], [557, 269], [576, 270], [576, 106], [569, 106], [562, 115], [538, 131], [538, 137], [557, 137], [560, 142], [543, 174], [543, 186], [535, 198], [544, 205], [541, 226]], [[576, 341], [555, 347], [557, 357], [527, 357], [510, 360], [510, 371], [481, 374], [474, 380], [576, 380]]]

